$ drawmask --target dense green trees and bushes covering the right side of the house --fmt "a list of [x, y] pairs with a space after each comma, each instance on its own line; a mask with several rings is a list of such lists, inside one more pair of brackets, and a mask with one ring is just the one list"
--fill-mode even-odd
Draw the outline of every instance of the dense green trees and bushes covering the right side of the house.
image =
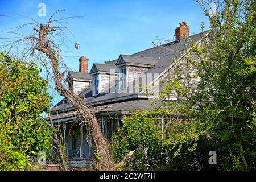
[[[256, 1], [221, 1], [213, 16], [198, 2], [210, 20], [209, 36], [188, 53], [199, 63], [189, 56], [185, 67], [177, 62], [159, 110], [125, 118], [112, 140], [115, 159], [136, 150], [125, 169], [256, 169]], [[174, 91], [178, 100], [166, 101]], [[156, 118], [168, 114], [179, 119], [165, 119], [161, 133]], [[217, 165], [209, 165], [209, 151]]]

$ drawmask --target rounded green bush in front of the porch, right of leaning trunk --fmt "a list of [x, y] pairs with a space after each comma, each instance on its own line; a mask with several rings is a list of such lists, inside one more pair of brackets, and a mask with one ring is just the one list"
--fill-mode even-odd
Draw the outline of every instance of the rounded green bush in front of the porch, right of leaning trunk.
[[123, 126], [112, 137], [111, 150], [116, 162], [135, 150], [123, 169], [152, 170], [162, 167], [164, 158], [163, 154], [159, 154], [164, 151], [164, 146], [160, 141], [158, 124], [152, 119], [154, 116], [156, 114], [148, 111], [138, 111], [126, 117]]

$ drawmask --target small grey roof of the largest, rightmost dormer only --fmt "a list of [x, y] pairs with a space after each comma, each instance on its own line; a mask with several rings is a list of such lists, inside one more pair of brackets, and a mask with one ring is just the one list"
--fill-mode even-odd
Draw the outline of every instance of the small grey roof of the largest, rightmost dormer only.
[[128, 55], [120, 55], [117, 63], [115, 65], [119, 64], [133, 64], [133, 65], [145, 65], [146, 67], [154, 67], [156, 64], [158, 64], [159, 58], [154, 57], [145, 57], [145, 56], [128, 56]]

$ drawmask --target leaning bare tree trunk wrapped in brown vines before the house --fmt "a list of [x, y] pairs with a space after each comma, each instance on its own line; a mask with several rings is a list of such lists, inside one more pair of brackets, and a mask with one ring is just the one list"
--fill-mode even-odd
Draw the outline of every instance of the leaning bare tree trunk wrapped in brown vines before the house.
[[54, 31], [52, 27], [50, 27], [51, 22], [48, 22], [44, 25], [41, 24], [40, 29], [34, 30], [39, 32], [39, 38], [37, 38], [37, 44], [35, 49], [39, 52], [42, 52], [44, 55], [48, 57], [51, 63], [51, 68], [53, 72], [53, 79], [55, 82], [55, 90], [59, 92], [59, 94], [69, 100], [76, 108], [76, 111], [82, 116], [82, 118], [87, 122], [90, 131], [92, 131], [93, 140], [96, 144], [97, 149], [100, 151], [100, 155], [102, 157], [102, 162], [100, 163], [102, 169], [110, 169], [112, 167], [112, 158], [110, 156], [109, 151], [109, 143], [105, 137], [103, 137], [101, 133], [100, 124], [98, 123], [96, 117], [86, 106], [84, 98], [80, 98], [72, 90], [65, 89], [63, 86], [63, 75], [60, 73], [59, 68], [59, 55], [56, 52], [59, 52], [59, 49], [54, 44], [53, 40], [49, 39], [47, 36], [51, 31]]

